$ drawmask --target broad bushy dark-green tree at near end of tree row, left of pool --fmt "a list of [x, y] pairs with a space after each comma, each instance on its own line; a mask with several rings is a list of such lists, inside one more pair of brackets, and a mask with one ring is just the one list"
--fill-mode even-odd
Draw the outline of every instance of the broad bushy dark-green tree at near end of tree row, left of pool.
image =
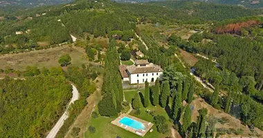
[[115, 116], [117, 115], [116, 106], [114, 106], [114, 99], [111, 92], [107, 92], [102, 100], [98, 103], [98, 110], [102, 116]]

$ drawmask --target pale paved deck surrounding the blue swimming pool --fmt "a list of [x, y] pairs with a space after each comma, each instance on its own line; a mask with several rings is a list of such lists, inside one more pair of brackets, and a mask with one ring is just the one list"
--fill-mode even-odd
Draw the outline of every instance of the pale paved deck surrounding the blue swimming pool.
[[[136, 121], [140, 121], [144, 126], [144, 130], [136, 130], [134, 128], [131, 128], [129, 126], [126, 126], [125, 124], [120, 124], [120, 120], [123, 119], [123, 117], [129, 117], [130, 119], [134, 119]], [[125, 130], [128, 130], [130, 132], [134, 132], [134, 134], [139, 135], [141, 137], [145, 136], [145, 134], [154, 126], [151, 122], [144, 121], [143, 119], [138, 119], [137, 117], [133, 117], [131, 115], [122, 114], [120, 117], [116, 118], [114, 121], [111, 121], [111, 124], [114, 124], [116, 126], [119, 126], [120, 128], [123, 128]]]

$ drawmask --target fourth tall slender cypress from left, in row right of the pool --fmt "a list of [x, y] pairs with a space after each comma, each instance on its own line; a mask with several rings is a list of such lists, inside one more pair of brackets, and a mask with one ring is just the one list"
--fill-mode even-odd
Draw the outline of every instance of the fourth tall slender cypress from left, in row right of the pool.
[[174, 103], [173, 103], [173, 108], [172, 108], [172, 118], [174, 120], [179, 120], [179, 112], [181, 110], [181, 106], [182, 106], [182, 94], [181, 92], [176, 92], [176, 95], [174, 97]]

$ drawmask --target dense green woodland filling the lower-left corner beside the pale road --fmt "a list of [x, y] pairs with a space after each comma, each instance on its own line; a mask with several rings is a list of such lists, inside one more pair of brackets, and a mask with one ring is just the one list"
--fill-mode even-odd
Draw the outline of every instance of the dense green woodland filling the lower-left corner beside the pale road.
[[70, 98], [62, 76], [0, 80], [0, 137], [44, 137]]

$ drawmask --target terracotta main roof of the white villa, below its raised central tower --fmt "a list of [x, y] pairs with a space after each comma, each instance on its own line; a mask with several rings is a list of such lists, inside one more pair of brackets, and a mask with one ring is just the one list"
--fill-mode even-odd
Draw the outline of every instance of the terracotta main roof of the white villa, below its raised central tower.
[[135, 65], [127, 66], [127, 71], [130, 74], [149, 73], [149, 72], [163, 72], [163, 69], [157, 65], [151, 64], [149, 66], [137, 67]]

